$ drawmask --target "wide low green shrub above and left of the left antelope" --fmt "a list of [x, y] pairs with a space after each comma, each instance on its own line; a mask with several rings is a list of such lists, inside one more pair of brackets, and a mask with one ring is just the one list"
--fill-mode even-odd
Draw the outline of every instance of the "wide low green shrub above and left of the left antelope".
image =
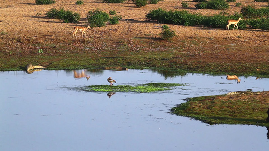
[[47, 18], [60, 19], [64, 23], [78, 23], [80, 15], [72, 11], [65, 11], [63, 8], [60, 10], [50, 9], [46, 14]]

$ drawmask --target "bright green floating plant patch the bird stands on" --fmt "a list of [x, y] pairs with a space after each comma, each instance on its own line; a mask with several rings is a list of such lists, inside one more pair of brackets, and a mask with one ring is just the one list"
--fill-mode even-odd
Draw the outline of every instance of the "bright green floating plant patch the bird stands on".
[[85, 91], [90, 92], [137, 92], [137, 93], [149, 93], [171, 90], [172, 87], [185, 86], [185, 84], [166, 84], [166, 83], [148, 83], [136, 86], [130, 85], [91, 85], [87, 86]]

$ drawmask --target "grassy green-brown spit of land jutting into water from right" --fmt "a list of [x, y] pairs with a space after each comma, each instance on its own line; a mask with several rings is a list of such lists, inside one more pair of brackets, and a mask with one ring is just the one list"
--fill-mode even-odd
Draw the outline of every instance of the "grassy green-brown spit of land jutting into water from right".
[[188, 98], [171, 113], [191, 117], [207, 124], [247, 124], [269, 127], [266, 121], [269, 91], [244, 92]]

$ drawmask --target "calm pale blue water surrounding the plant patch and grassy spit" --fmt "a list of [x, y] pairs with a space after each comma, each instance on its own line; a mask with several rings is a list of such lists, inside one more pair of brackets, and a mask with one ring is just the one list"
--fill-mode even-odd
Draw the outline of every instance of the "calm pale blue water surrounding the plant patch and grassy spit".
[[[77, 70], [80, 74], [82, 70]], [[269, 79], [191, 74], [167, 77], [152, 70], [0, 72], [0, 150], [267, 150], [266, 127], [208, 125], [169, 114], [187, 97], [232, 91], [268, 91]], [[79, 76], [77, 76], [79, 77]], [[184, 83], [158, 93], [76, 91], [74, 87]]]

